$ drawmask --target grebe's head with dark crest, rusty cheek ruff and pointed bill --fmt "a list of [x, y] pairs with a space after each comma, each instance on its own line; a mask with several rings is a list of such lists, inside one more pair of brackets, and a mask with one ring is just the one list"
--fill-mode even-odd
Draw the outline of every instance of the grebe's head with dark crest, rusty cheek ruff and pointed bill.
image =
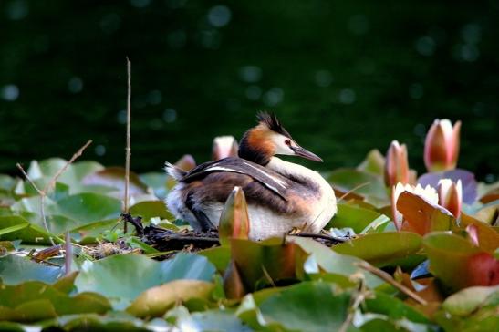
[[246, 131], [239, 143], [239, 157], [266, 165], [275, 154], [298, 156], [322, 161], [314, 153], [300, 147], [274, 114], [259, 112], [258, 124]]

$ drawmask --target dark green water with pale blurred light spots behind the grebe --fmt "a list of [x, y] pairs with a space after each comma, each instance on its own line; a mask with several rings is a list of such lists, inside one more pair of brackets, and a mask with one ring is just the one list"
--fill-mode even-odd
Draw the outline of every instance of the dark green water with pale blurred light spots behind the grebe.
[[463, 120], [459, 165], [494, 180], [499, 2], [0, 2], [0, 171], [17, 161], [124, 160], [132, 62], [132, 169], [161, 171], [274, 111], [295, 139], [351, 166], [405, 142], [423, 171], [431, 121]]

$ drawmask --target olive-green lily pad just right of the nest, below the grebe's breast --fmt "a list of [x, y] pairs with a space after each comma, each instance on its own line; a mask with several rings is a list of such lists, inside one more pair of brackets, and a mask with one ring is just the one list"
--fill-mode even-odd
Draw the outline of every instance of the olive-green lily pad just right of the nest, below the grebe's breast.
[[[416, 233], [371, 233], [359, 236], [332, 249], [338, 254], [348, 254], [379, 267], [400, 265], [400, 262], [421, 249], [422, 238]], [[421, 261], [424, 256], [421, 255]], [[421, 262], [419, 262], [421, 263]]]

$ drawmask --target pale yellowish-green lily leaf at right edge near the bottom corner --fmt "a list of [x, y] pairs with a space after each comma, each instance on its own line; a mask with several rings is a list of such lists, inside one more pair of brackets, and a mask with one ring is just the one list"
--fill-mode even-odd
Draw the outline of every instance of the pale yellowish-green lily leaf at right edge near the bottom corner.
[[499, 285], [464, 288], [458, 293], [447, 297], [442, 307], [451, 315], [468, 316], [478, 307], [482, 306], [487, 297], [493, 295], [496, 297], [499, 296]]

